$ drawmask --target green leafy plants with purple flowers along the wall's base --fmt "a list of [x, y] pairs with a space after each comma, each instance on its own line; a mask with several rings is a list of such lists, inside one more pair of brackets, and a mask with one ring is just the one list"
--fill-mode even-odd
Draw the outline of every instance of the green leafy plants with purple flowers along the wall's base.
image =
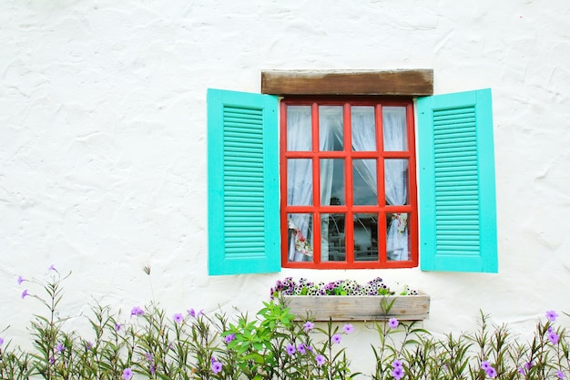
[[[86, 316], [91, 334], [69, 331], [59, 310], [62, 282], [54, 271], [36, 282], [43, 296], [26, 294], [43, 306], [30, 321], [33, 349], [0, 342], [2, 379], [133, 380], [373, 380], [558, 379], [570, 375], [570, 349], [563, 326], [550, 318], [522, 341], [506, 325], [481, 314], [473, 333], [439, 337], [417, 323], [394, 319], [364, 324], [378, 336], [372, 344], [370, 375], [351, 371], [341, 338], [351, 324], [300, 322], [282, 302], [270, 301], [254, 317], [188, 311], [168, 316], [156, 303], [130, 316], [95, 304]], [[339, 287], [341, 289], [341, 287]], [[340, 291], [341, 292], [341, 291]], [[384, 298], [386, 315], [393, 301]], [[6, 329], [2, 334], [6, 333]], [[127, 371], [127, 372], [125, 372]]]

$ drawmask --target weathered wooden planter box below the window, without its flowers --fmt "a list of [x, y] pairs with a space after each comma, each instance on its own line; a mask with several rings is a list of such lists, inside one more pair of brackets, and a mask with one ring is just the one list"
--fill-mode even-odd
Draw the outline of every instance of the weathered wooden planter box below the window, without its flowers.
[[[285, 304], [297, 320], [307, 315], [314, 321], [421, 321], [430, 313], [430, 296], [418, 295], [285, 295]], [[382, 311], [381, 302], [390, 304], [389, 313]]]

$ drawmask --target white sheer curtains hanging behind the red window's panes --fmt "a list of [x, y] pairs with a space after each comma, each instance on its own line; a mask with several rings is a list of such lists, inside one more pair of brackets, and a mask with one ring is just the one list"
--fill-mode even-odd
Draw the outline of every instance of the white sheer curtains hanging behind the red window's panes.
[[[320, 112], [320, 149], [332, 150], [335, 140], [342, 142], [342, 115], [331, 111], [327, 107], [321, 107]], [[352, 149], [360, 151], [376, 150], [374, 112], [353, 108], [352, 112]], [[405, 108], [385, 107], [382, 109], [382, 123], [384, 130], [384, 149], [403, 150], [407, 149], [406, 141], [406, 117]], [[340, 115], [340, 116], [336, 116]], [[289, 107], [287, 112], [287, 149], [310, 150], [310, 107]], [[375, 160], [354, 160], [355, 169], [361, 174], [362, 179], [377, 193], [377, 175]], [[391, 205], [403, 205], [407, 195], [407, 159], [386, 159], [384, 162], [384, 176], [386, 188], [386, 202]], [[289, 159], [287, 166], [288, 175], [288, 204], [310, 205], [312, 204], [312, 165], [310, 159]], [[321, 204], [329, 205], [331, 201], [333, 160], [321, 160]], [[308, 236], [310, 228], [309, 214], [291, 214], [290, 229], [300, 231], [301, 236], [312, 241]], [[329, 224], [326, 218], [321, 222], [321, 262], [329, 260]], [[300, 262], [311, 260], [307, 250], [299, 251], [299, 244], [295, 243], [295, 234], [291, 236], [289, 260]], [[408, 229], [407, 214], [394, 214], [389, 222], [387, 231], [388, 260], [409, 260], [408, 253]]]

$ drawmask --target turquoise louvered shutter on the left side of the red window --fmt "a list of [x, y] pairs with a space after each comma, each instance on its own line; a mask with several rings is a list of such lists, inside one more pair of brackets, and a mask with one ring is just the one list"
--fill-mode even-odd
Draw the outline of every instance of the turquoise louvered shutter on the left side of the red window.
[[208, 90], [209, 274], [280, 271], [277, 104]]

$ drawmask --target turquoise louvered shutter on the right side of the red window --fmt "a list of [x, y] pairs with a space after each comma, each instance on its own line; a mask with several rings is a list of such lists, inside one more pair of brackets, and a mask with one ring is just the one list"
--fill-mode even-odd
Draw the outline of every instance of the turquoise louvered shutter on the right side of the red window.
[[422, 270], [497, 272], [491, 90], [417, 106]]

